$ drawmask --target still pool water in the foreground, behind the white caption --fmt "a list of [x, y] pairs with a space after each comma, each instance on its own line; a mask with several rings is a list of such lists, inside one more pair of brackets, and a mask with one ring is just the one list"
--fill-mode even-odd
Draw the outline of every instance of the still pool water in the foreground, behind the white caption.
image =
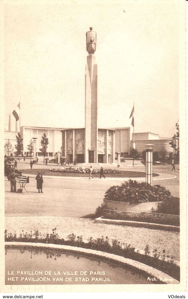
[[[114, 262], [101, 261], [93, 257], [85, 257], [84, 254], [69, 254], [61, 249], [44, 249], [44, 248], [24, 248], [12, 249], [7, 246], [5, 250], [5, 281], [6, 284], [148, 284], [159, 283], [147, 281], [147, 274], [137, 270], [130, 270], [126, 266], [121, 266]], [[35, 276], [19, 277], [18, 281], [8, 280], [8, 271], [52, 271], [52, 273], [61, 273], [59, 279], [56, 275], [49, 275], [50, 282], [40, 277], [41, 281], [36, 281]], [[65, 274], [63, 274], [65, 271]], [[67, 271], [67, 272], [66, 272]], [[70, 276], [74, 271], [78, 272], [76, 276]], [[81, 275], [83, 271], [87, 274]], [[19, 272], [19, 273], [20, 273]], [[103, 272], [105, 274], [103, 274]], [[91, 273], [91, 274], [90, 274]], [[79, 276], [80, 274], [80, 276]], [[66, 276], [67, 275], [67, 276]], [[17, 274], [19, 276], [19, 274]], [[28, 277], [27, 277], [28, 276]], [[31, 278], [34, 277], [34, 278]], [[67, 277], [67, 278], [66, 278]], [[72, 280], [68, 280], [72, 277]], [[23, 280], [21, 280], [23, 279]], [[26, 279], [26, 281], [24, 280]], [[32, 279], [32, 280], [31, 280]], [[67, 281], [65, 280], [67, 279]], [[88, 279], [88, 280], [87, 280]]]

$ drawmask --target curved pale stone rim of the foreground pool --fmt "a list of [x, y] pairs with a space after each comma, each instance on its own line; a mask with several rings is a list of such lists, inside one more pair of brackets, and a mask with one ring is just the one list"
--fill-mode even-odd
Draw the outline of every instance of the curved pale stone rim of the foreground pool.
[[[5, 242], [5, 245], [14, 245], [14, 246], [30, 246], [30, 247], [43, 247], [43, 248], [56, 248], [56, 249], [64, 249], [68, 251], [76, 251], [80, 253], [90, 254], [93, 256], [99, 256], [99, 257], [105, 257], [110, 260], [118, 261], [124, 265], [132, 266], [138, 270], [146, 272], [148, 275], [155, 277], [159, 281], [163, 281], [163, 283], [168, 284], [179, 284], [179, 281], [175, 278], [169, 276], [168, 274], [157, 270], [151, 266], [148, 266], [146, 264], [140, 263], [135, 260], [131, 260], [125, 257], [121, 257], [116, 254], [107, 253], [104, 251], [98, 251], [88, 248], [81, 248], [81, 247], [74, 247], [74, 246], [68, 246], [68, 245], [58, 245], [58, 244], [45, 244], [45, 243], [29, 243], [29, 242]], [[161, 278], [166, 279], [166, 281], [161, 280]]]

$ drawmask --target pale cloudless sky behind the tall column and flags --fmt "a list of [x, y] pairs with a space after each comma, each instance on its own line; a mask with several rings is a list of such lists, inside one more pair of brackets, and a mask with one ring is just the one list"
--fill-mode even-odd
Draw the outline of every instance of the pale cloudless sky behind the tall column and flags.
[[[93, 27], [98, 127], [131, 126], [134, 103], [135, 132], [172, 137], [179, 119], [178, 9], [162, 2], [5, 4], [5, 129], [19, 102], [21, 126], [84, 127], [86, 31]], [[13, 115], [11, 123], [14, 131]]]

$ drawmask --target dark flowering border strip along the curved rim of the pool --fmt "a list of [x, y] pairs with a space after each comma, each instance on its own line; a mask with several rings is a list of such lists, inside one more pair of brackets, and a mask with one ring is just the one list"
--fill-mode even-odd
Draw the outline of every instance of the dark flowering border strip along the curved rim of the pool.
[[9, 234], [7, 230], [4, 233], [5, 241], [13, 242], [35, 242], [35, 243], [52, 243], [52, 244], [60, 244], [60, 245], [70, 245], [81, 248], [90, 248], [99, 251], [105, 251], [112, 254], [117, 254], [119, 256], [123, 256], [126, 258], [130, 258], [132, 260], [139, 261], [141, 263], [145, 263], [146, 265], [152, 266], [155, 269], [161, 270], [164, 273], [174, 277], [177, 280], [180, 280], [180, 268], [175, 264], [174, 258], [166, 255], [165, 249], [162, 254], [157, 252], [157, 249], [153, 249], [152, 255], [150, 256], [150, 247], [146, 245], [144, 251], [145, 254], [140, 254], [139, 251], [135, 252], [135, 248], [128, 243], [121, 243], [116, 239], [113, 239], [110, 243], [108, 237], [102, 236], [101, 238], [93, 239], [90, 237], [88, 242], [83, 242], [82, 236], [76, 237], [75, 234], [70, 234], [67, 236], [67, 240], [59, 238], [56, 228], [52, 230], [51, 234], [47, 234], [45, 237], [42, 237], [39, 234], [38, 229], [30, 234], [24, 233], [16, 236], [16, 234]]

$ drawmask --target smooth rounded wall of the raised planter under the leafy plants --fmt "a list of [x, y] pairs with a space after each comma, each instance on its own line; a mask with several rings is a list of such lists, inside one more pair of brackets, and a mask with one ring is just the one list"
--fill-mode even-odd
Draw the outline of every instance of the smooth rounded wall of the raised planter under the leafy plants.
[[131, 204], [130, 202], [115, 202], [103, 199], [104, 208], [112, 211], [129, 211], [129, 212], [151, 212], [151, 208], [156, 208], [158, 202], [142, 202]]

